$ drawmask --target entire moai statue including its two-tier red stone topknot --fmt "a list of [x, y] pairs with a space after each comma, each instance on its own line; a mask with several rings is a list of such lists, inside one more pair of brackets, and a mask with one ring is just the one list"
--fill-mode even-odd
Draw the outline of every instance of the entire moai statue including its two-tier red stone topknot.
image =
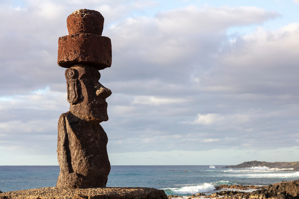
[[99, 83], [99, 70], [111, 66], [108, 37], [101, 36], [104, 17], [79, 9], [67, 17], [69, 35], [58, 40], [58, 65], [67, 68], [70, 110], [58, 121], [57, 188], [105, 187], [110, 172], [108, 137], [100, 125], [107, 121], [106, 98], [111, 91]]

